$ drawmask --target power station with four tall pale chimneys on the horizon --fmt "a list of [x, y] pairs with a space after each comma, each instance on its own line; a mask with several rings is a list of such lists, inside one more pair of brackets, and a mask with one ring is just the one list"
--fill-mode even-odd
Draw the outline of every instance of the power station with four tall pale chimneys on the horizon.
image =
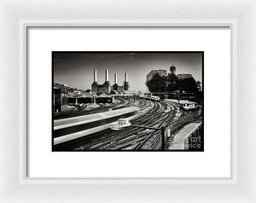
[[123, 86], [119, 86], [117, 83], [117, 73], [113, 74], [113, 86], [111, 86], [108, 79], [108, 69], [105, 70], [105, 82], [103, 84], [97, 83], [97, 71], [94, 70], [93, 73], [93, 83], [91, 84], [91, 90], [96, 94], [110, 94], [111, 90], [122, 92], [123, 90], [129, 90], [130, 85], [128, 82], [128, 74], [125, 73], [125, 81]]

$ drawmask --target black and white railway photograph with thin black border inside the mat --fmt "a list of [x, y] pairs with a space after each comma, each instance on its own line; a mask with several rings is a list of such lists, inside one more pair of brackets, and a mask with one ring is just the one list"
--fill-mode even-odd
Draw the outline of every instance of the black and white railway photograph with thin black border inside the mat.
[[203, 73], [203, 51], [52, 51], [52, 151], [204, 151]]

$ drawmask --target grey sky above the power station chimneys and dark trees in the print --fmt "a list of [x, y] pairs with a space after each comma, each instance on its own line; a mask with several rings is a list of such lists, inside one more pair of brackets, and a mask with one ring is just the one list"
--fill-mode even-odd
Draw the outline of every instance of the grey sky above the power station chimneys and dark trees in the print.
[[54, 83], [67, 84], [80, 90], [91, 89], [93, 70], [97, 70], [97, 83], [103, 84], [105, 69], [108, 69], [111, 85], [114, 73], [117, 73], [119, 85], [123, 85], [125, 73], [128, 73], [130, 90], [145, 91], [147, 74], [158, 69], [170, 73], [172, 64], [176, 67], [176, 74], [190, 73], [196, 81], [202, 81], [201, 53], [55, 52]]

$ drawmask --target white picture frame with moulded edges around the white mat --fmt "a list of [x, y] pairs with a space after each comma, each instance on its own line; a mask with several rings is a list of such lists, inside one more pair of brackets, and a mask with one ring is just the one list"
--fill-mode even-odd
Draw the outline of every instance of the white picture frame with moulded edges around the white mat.
[[[2, 1], [0, 14], [1, 202], [256, 202], [255, 1]], [[229, 26], [232, 177], [26, 178], [27, 26]]]

